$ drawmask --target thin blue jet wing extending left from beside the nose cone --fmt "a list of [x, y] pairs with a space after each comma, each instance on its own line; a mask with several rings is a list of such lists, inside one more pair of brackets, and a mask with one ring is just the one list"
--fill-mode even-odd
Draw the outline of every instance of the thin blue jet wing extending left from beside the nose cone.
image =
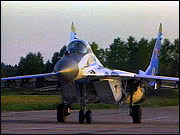
[[49, 77], [49, 76], [55, 76], [57, 73], [44, 73], [44, 74], [35, 74], [35, 75], [24, 75], [24, 76], [14, 76], [14, 77], [5, 77], [1, 78], [1, 81], [5, 80], [17, 80], [17, 79], [27, 79], [27, 78], [39, 78], [39, 77]]

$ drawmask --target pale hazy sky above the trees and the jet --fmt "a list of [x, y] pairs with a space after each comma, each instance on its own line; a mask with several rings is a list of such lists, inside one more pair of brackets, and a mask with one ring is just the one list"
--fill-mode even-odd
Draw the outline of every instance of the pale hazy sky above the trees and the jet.
[[69, 41], [71, 23], [78, 37], [108, 47], [117, 36], [148, 40], [163, 25], [163, 38], [179, 38], [178, 1], [1, 1], [1, 62], [40, 51], [51, 59]]

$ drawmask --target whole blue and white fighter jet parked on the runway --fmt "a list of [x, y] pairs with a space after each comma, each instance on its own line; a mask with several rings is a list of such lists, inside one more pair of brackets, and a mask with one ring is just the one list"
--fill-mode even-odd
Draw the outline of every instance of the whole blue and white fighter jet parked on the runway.
[[70, 41], [64, 56], [55, 64], [54, 71], [45, 74], [1, 78], [15, 80], [39, 77], [56, 77], [61, 90], [62, 103], [57, 107], [57, 121], [65, 122], [70, 115], [70, 105], [80, 102], [79, 123], [92, 123], [92, 111], [87, 103], [130, 104], [133, 123], [141, 123], [140, 103], [144, 99], [144, 83], [158, 89], [162, 81], [178, 85], [179, 78], [157, 76], [162, 24], [156, 37], [151, 61], [146, 71], [131, 73], [105, 68], [94, 55], [87, 41], [77, 37], [72, 23]]

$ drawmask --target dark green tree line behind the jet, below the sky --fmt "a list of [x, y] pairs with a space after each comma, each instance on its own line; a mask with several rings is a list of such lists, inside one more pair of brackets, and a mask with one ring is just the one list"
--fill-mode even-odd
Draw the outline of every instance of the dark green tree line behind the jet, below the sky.
[[[144, 37], [137, 41], [129, 36], [127, 41], [117, 37], [107, 48], [99, 48], [96, 42], [89, 43], [94, 54], [100, 62], [110, 69], [120, 69], [138, 73], [138, 70], [145, 71], [152, 55], [155, 39], [148, 41]], [[61, 59], [66, 46], [44, 63], [40, 52], [28, 53], [21, 57], [18, 65], [6, 65], [1, 62], [1, 77], [30, 75], [52, 72], [56, 62]], [[159, 75], [179, 76], [179, 38], [171, 43], [168, 39], [162, 41], [159, 57]]]

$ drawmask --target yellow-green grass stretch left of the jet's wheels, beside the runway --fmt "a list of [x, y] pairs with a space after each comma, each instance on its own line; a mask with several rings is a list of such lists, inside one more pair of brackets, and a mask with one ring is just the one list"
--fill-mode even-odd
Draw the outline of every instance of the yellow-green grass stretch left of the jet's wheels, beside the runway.
[[56, 109], [61, 99], [59, 96], [1, 96], [1, 111], [30, 111]]

